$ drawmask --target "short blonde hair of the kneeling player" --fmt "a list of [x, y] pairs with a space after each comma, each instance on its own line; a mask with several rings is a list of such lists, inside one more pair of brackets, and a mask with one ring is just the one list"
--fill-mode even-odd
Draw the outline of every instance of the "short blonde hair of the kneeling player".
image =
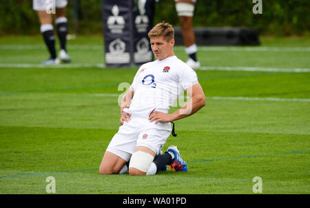
[[174, 28], [169, 23], [158, 23], [152, 30], [149, 31], [149, 38], [164, 37], [168, 42], [174, 39]]

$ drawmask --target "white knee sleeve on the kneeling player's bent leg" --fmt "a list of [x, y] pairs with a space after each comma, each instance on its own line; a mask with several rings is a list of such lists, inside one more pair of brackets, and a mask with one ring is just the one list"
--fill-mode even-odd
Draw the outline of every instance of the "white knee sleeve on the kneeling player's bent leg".
[[134, 167], [146, 173], [149, 170], [149, 166], [152, 164], [153, 160], [154, 156], [148, 154], [147, 152], [134, 152], [134, 154], [132, 154], [132, 158], [130, 158], [130, 168]]

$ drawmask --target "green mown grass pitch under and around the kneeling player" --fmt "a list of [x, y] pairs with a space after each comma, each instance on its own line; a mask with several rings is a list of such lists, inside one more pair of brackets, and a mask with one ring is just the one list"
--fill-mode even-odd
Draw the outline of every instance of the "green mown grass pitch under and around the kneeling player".
[[138, 69], [102, 67], [102, 45], [78, 37], [72, 63], [43, 67], [41, 37], [0, 39], [0, 194], [46, 194], [48, 176], [56, 194], [254, 194], [256, 176], [262, 194], [310, 193], [309, 39], [198, 47], [207, 105], [176, 121], [163, 147], [177, 145], [189, 171], [156, 176], [99, 175], [118, 85]]

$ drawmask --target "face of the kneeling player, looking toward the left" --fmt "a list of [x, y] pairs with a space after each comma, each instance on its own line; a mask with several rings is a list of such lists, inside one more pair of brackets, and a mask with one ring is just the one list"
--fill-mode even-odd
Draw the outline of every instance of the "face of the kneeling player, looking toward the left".
[[166, 41], [164, 37], [152, 37], [150, 42], [156, 59], [163, 60], [169, 56], [174, 56], [174, 39]]

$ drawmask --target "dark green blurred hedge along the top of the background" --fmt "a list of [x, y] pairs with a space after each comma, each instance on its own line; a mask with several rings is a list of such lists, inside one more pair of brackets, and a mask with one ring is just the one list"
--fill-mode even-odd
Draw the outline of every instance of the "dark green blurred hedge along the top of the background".
[[[67, 17], [70, 31], [101, 34], [101, 0], [69, 0]], [[125, 0], [124, 0], [125, 1]], [[265, 35], [309, 35], [309, 0], [262, 0], [262, 14], [253, 14], [252, 0], [198, 0], [195, 27], [249, 27]], [[31, 0], [0, 0], [0, 35], [39, 34], [39, 20]], [[178, 26], [174, 0], [156, 4], [155, 23], [166, 21]]]

